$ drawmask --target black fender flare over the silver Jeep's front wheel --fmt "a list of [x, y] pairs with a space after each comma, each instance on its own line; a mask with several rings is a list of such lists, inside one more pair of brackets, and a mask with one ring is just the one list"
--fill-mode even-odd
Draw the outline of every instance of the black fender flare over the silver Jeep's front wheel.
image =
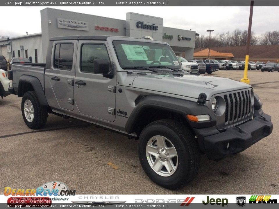
[[[216, 125], [215, 116], [212, 111], [205, 105], [199, 105], [196, 102], [172, 98], [167, 96], [144, 96], [133, 109], [128, 118], [125, 129], [128, 134], [133, 132], [137, 120], [140, 118], [142, 111], [148, 108], [161, 109], [171, 111], [182, 115], [191, 127], [212, 127]], [[204, 115], [209, 114], [211, 120], [202, 122], [192, 122], [187, 119], [186, 115]]]

